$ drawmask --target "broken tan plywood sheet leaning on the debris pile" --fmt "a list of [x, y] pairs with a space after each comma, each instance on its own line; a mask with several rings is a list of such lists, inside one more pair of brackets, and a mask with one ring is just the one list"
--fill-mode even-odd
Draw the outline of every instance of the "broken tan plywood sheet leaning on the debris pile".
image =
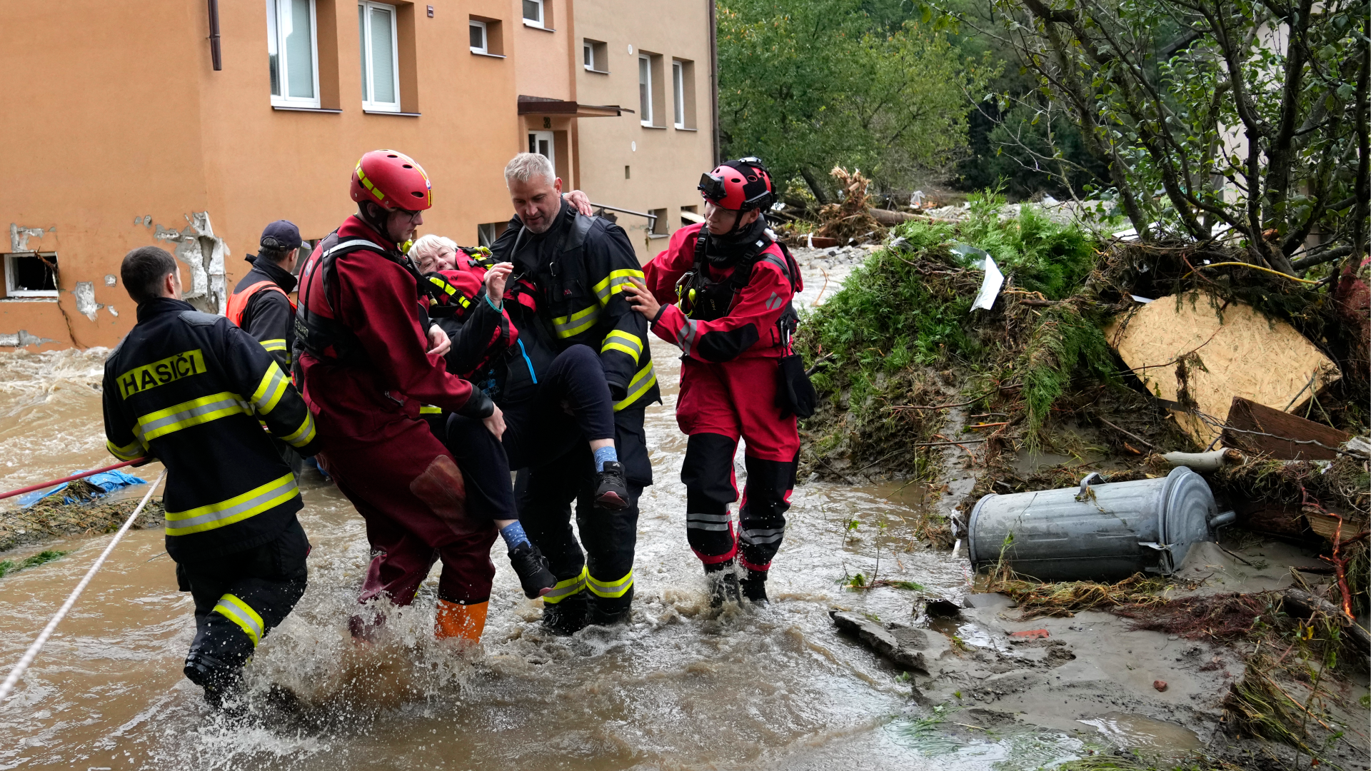
[[[1158, 399], [1193, 402], [1215, 423], [1227, 417], [1234, 396], [1286, 410], [1339, 376], [1337, 365], [1294, 327], [1198, 292], [1120, 314], [1105, 335]], [[1219, 436], [1193, 412], [1172, 414], [1200, 446]]]

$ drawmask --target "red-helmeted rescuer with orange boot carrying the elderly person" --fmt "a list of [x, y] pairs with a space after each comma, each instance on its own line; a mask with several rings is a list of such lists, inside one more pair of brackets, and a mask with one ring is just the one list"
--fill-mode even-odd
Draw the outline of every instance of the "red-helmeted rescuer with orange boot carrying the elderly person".
[[[448, 337], [424, 313], [421, 277], [398, 248], [432, 206], [424, 169], [400, 152], [367, 152], [352, 171], [352, 200], [358, 213], [306, 263], [296, 332], [319, 457], [366, 520], [373, 558], [359, 602], [385, 595], [409, 605], [441, 560], [435, 634], [477, 641], [495, 575], [492, 520], [517, 519], [503, 418], [447, 372]], [[454, 460], [421, 420], [422, 405], [483, 420], [489, 431]], [[531, 558], [551, 586], [546, 564]], [[354, 616], [354, 637], [366, 638], [377, 623], [374, 613]]]

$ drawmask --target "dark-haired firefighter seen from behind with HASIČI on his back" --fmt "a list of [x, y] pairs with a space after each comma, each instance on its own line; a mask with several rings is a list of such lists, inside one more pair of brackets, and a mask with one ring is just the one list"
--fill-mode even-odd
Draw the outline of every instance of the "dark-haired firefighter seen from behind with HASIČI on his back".
[[295, 517], [300, 493], [258, 421], [313, 455], [314, 418], [256, 340], [177, 299], [181, 274], [170, 254], [136, 248], [121, 274], [138, 322], [104, 364], [107, 447], [167, 468], [167, 554], [180, 589], [195, 598], [184, 671], [221, 705], [262, 638], [304, 594], [310, 543]]

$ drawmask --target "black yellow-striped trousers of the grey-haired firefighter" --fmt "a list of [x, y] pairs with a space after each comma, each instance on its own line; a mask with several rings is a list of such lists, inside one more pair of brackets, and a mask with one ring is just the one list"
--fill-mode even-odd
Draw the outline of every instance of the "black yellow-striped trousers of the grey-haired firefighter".
[[[584, 442], [550, 462], [520, 471], [515, 483], [520, 521], [558, 579], [544, 602], [557, 604], [588, 590], [606, 615], [627, 610], [632, 604], [638, 498], [653, 483], [643, 413], [644, 407], [614, 413], [614, 444], [628, 477], [629, 497], [628, 508], [621, 512], [595, 506], [595, 464]], [[572, 530], [572, 501], [580, 542]]]

